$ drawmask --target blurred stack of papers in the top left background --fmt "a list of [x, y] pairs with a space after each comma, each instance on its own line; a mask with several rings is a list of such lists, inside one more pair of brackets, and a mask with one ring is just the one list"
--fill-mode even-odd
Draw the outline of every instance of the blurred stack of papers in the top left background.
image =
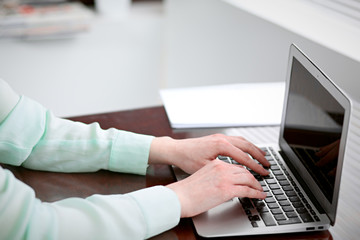
[[0, 5], [0, 38], [45, 39], [73, 36], [90, 27], [93, 12], [80, 2]]

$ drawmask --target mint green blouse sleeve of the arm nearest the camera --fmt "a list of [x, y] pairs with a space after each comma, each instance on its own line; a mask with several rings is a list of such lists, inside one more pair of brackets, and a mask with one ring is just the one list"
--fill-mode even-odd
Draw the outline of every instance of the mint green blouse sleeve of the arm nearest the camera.
[[146, 239], [179, 219], [177, 196], [163, 186], [43, 203], [0, 167], [0, 239]]

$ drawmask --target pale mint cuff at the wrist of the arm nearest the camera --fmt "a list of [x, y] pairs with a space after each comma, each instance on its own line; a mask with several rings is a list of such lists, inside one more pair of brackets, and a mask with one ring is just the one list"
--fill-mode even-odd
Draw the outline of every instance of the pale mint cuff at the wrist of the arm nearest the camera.
[[155, 186], [127, 194], [139, 205], [146, 222], [146, 238], [167, 231], [180, 221], [181, 206], [176, 193]]

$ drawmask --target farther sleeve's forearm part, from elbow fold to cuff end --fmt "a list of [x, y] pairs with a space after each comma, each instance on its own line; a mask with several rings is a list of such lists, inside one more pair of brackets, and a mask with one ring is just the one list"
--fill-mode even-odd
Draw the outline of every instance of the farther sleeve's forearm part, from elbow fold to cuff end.
[[46, 133], [23, 166], [60, 172], [146, 173], [153, 137], [47, 115]]

